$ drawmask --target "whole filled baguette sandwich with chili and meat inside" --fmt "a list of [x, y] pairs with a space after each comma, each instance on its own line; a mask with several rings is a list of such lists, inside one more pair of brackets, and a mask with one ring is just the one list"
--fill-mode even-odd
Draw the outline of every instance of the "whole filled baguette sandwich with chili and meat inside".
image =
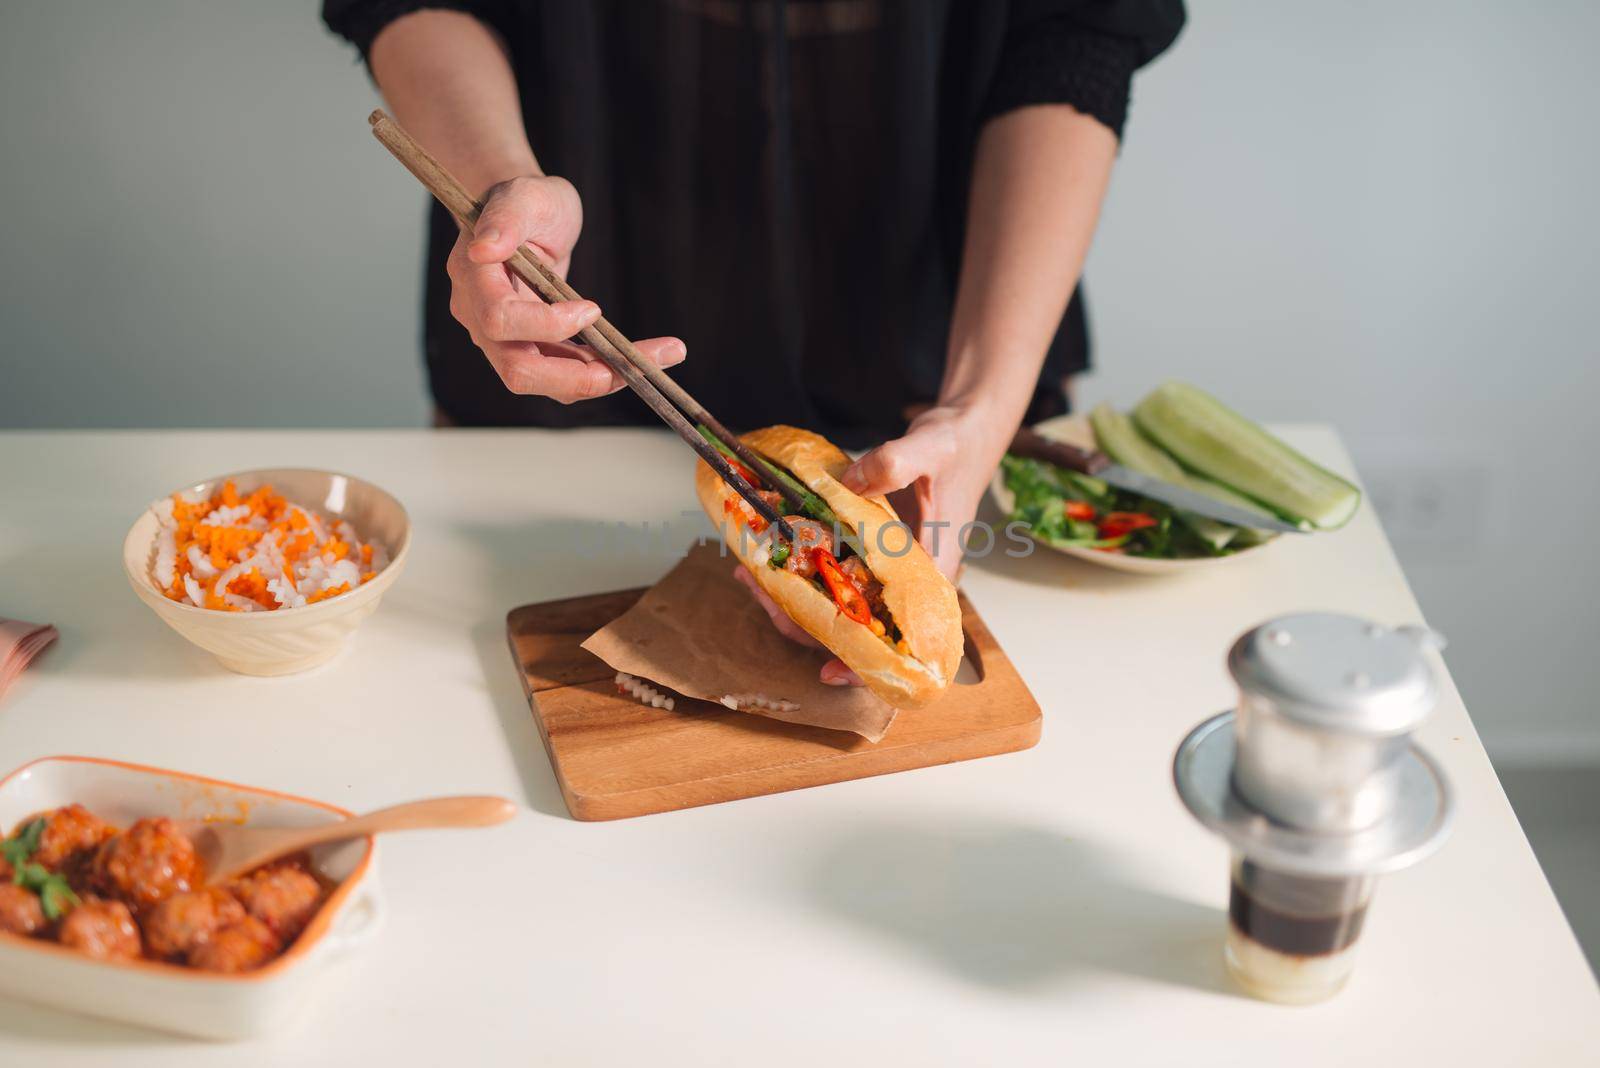
[[[920, 708], [950, 684], [962, 662], [955, 587], [883, 497], [861, 497], [838, 481], [850, 457], [808, 430], [766, 427], [742, 441], [770, 464], [766, 475], [805, 497], [762, 497], [784, 515], [794, 544], [768, 524], [704, 462], [701, 507], [757, 584], [867, 687], [896, 708]], [[760, 489], [754, 472], [730, 457]], [[835, 537], [837, 531], [837, 537]]]

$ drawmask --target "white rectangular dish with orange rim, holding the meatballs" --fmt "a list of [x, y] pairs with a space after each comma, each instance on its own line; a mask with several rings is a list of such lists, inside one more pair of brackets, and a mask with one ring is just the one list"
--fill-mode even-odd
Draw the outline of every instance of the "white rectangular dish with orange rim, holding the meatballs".
[[[320, 801], [176, 771], [48, 756], [0, 780], [0, 827], [10, 831], [74, 801], [117, 827], [146, 815], [272, 827], [315, 827], [350, 815]], [[310, 862], [338, 886], [294, 945], [266, 967], [219, 975], [155, 961], [94, 961], [54, 942], [0, 934], [0, 996], [198, 1038], [278, 1031], [318, 999], [330, 966], [382, 924], [371, 838], [318, 846]]]

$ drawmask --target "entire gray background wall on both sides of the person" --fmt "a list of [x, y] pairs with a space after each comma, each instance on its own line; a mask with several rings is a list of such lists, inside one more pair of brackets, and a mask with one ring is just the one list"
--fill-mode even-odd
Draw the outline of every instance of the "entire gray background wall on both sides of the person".
[[[1192, 6], [1085, 397], [1338, 424], [1496, 755], [1600, 759], [1600, 6]], [[374, 99], [310, 2], [8, 0], [0, 425], [419, 424], [422, 200]]]

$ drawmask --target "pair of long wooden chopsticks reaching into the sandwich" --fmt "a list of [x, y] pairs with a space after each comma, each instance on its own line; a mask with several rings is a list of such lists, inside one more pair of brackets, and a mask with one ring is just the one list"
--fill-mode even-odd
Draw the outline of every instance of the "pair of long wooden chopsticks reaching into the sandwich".
[[[403, 163], [419, 182], [422, 182], [422, 185], [427, 187], [430, 193], [434, 193], [438, 203], [445, 205], [445, 209], [456, 217], [456, 224], [464, 230], [470, 230], [478, 219], [482, 205], [472, 198], [472, 193], [467, 192], [466, 185], [456, 181], [456, 177], [446, 171], [438, 160], [429, 155], [427, 149], [419, 145], [411, 134], [402, 130], [400, 123], [390, 118], [381, 107], [368, 115], [366, 122], [373, 126], [373, 136], [378, 137], [384, 147], [389, 149], [389, 152], [392, 152], [394, 157], [400, 160], [400, 163]], [[526, 248], [518, 248], [517, 253], [506, 261], [506, 265], [517, 272], [517, 277], [526, 281], [534, 293], [550, 304], [582, 299], [571, 286], [566, 285], [563, 278], [539, 262], [539, 257]], [[722, 452], [718, 452], [710, 441], [702, 438], [699, 432], [690, 425], [690, 420], [683, 417], [683, 412], [674, 408], [672, 401], [669, 401], [667, 397], [662, 397], [662, 393], [667, 392], [677, 403], [683, 404], [685, 411], [688, 411], [696, 422], [704, 424], [707, 430], [717, 435], [717, 438], [720, 438], [722, 443], [726, 444], [734, 456], [738, 456], [746, 467], [755, 473], [757, 478], [773, 484], [786, 497], [792, 497], [794, 491], [784, 486], [779, 480], [773, 478], [755, 454], [752, 454], [750, 449], [739, 441], [739, 438], [728, 433], [728, 430], [717, 422], [709, 411], [698, 404], [693, 397], [678, 387], [677, 382], [667, 377], [666, 371], [658, 368], [651, 360], [645, 358], [645, 355], [634, 347], [634, 342], [630, 342], [622, 331], [611, 326], [605, 317], [597, 320], [592, 326], [586, 326], [578, 336], [582, 337], [584, 342], [595, 350], [600, 360], [608, 368], [616, 371], [618, 376], [627, 382], [629, 389], [638, 393], [638, 397], [650, 404], [650, 409], [661, 416], [661, 419], [672, 427], [672, 430], [675, 430], [677, 435], [683, 438], [683, 441], [688, 443], [688, 446], [694, 449], [694, 452], [698, 452], [699, 457], [734, 489], [734, 492], [744, 497], [746, 504], [755, 508], [757, 515], [766, 520], [771, 526], [776, 526], [778, 532], [786, 539], [790, 542], [795, 540], [795, 532], [794, 528], [789, 526], [789, 521], [779, 515], [776, 508], [762, 500], [755, 488], [744, 481], [736, 470], [733, 470]], [[666, 384], [667, 389], [658, 389], [659, 384]]]

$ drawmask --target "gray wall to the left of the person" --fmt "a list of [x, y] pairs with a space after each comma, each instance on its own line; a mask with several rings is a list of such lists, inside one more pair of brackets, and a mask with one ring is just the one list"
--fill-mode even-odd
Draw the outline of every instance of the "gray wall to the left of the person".
[[5, 0], [0, 425], [414, 425], [424, 200], [309, 0]]

